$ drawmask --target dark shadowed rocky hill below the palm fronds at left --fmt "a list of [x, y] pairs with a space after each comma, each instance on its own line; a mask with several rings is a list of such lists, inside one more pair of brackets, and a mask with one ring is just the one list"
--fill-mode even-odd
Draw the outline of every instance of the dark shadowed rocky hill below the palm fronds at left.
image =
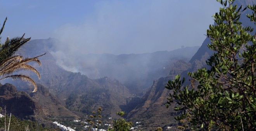
[[19, 118], [30, 118], [42, 114], [42, 108], [26, 92], [17, 91], [12, 84], [0, 84], [0, 106], [6, 106], [7, 113], [12, 113]]

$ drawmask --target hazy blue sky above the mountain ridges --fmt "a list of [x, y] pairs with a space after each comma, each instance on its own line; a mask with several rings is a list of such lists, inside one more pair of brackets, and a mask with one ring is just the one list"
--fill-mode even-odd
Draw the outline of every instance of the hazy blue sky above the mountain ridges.
[[[201, 45], [216, 0], [0, 0], [7, 37], [56, 38], [59, 54], [140, 54]], [[56, 52], [55, 52], [56, 53]]]

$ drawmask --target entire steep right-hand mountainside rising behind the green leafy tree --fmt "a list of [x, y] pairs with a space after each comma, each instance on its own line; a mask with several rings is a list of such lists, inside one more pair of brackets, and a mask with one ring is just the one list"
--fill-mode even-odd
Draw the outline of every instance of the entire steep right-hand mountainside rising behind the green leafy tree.
[[[234, 4], [246, 7], [245, 5], [248, 3], [256, 4], [256, 1], [236, 0]], [[245, 14], [248, 13], [251, 13], [251, 11], [246, 10], [242, 12], [240, 21], [244, 26], [250, 25], [251, 27], [255, 27], [253, 22], [250, 22], [245, 16]], [[255, 30], [252, 34], [255, 34]], [[137, 106], [128, 114], [127, 118], [130, 121], [142, 121], [144, 127], [142, 129], [144, 130], [153, 130], [158, 126], [161, 126], [163, 129], [167, 129], [167, 126], [177, 126], [179, 123], [175, 121], [174, 117], [180, 114], [180, 112], [174, 111], [175, 104], [169, 106], [168, 109], [164, 106], [167, 102], [166, 98], [168, 94], [171, 93], [170, 90], [165, 89], [164, 86], [166, 86], [168, 80], [173, 80], [177, 74], [186, 77], [187, 81], [185, 84], [189, 84], [189, 78], [187, 77], [188, 71], [193, 72], [199, 68], [207, 67], [206, 60], [213, 54], [213, 51], [207, 46], [210, 43], [210, 39], [206, 38], [189, 62], [177, 61], [167, 77], [161, 77], [154, 81], [151, 89], [142, 97]], [[176, 127], [173, 128], [173, 130], [176, 129]]]

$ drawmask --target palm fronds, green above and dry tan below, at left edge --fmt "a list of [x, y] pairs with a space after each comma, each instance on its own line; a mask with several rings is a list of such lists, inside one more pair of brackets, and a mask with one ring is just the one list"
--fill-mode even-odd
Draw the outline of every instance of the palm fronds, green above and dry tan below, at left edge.
[[[3, 22], [3, 26], [0, 30], [0, 35], [3, 32], [3, 28], [6, 20], [7, 20], [7, 17]], [[29, 71], [35, 72], [35, 74], [40, 79], [39, 72], [34, 67], [30, 66], [28, 62], [36, 62], [39, 65], [41, 65], [41, 62], [38, 59], [38, 57], [44, 54], [33, 57], [33, 58], [25, 58], [25, 59], [23, 59], [23, 57], [20, 55], [15, 55], [15, 52], [22, 45], [24, 45], [31, 39], [31, 37], [24, 38], [24, 35], [25, 34], [23, 34], [21, 37], [15, 37], [12, 39], [9, 39], [9, 37], [7, 37], [4, 43], [1, 42], [2, 37], [0, 37], [0, 80], [11, 77], [14, 80], [21, 79], [24, 81], [29, 81], [34, 86], [33, 92], [36, 92], [37, 90], [36, 82], [31, 77], [22, 75], [22, 74], [13, 74], [14, 72], [17, 72], [17, 71], [29, 70]]]

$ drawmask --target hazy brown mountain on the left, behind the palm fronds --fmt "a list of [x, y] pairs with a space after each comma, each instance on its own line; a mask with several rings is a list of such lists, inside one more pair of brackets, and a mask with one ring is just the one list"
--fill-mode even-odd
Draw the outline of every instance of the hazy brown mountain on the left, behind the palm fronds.
[[[126, 98], [133, 97], [129, 89], [120, 82], [108, 77], [92, 80], [80, 72], [65, 71], [56, 64], [49, 50], [54, 39], [31, 40], [17, 52], [24, 57], [31, 57], [47, 52], [40, 57], [42, 66], [33, 65], [41, 74], [38, 80], [33, 72], [22, 72], [33, 77], [38, 91], [30, 93], [49, 118], [71, 116], [78, 118], [89, 114], [101, 106], [106, 115], [115, 116], [120, 111], [119, 104], [126, 104]], [[17, 89], [31, 92], [33, 88], [24, 81], [10, 81]]]

